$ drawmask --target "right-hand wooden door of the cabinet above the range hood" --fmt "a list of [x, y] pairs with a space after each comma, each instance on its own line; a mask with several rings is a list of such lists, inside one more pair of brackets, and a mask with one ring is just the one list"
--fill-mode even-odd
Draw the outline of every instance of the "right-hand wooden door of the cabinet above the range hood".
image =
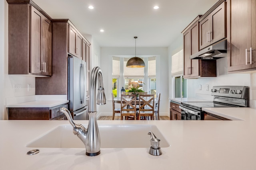
[[226, 2], [223, 2], [211, 12], [210, 43], [216, 43], [226, 38]]

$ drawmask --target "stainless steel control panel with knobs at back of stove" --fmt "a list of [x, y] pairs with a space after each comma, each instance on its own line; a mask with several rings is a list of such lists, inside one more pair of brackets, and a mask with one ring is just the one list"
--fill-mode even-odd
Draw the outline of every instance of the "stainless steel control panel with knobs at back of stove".
[[224, 96], [231, 98], [248, 98], [249, 87], [247, 86], [213, 86], [212, 96]]

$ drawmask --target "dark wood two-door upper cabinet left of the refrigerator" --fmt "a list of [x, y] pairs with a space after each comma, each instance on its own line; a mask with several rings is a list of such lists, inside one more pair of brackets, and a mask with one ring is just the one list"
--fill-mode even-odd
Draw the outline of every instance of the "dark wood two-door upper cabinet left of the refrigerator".
[[8, 5], [8, 73], [51, 76], [51, 18], [29, 2]]

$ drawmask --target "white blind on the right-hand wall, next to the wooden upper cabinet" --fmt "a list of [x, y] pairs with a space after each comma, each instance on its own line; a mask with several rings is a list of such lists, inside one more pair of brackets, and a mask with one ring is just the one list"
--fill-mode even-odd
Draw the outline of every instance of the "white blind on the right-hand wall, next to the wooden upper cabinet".
[[183, 75], [183, 49], [172, 56], [172, 76]]

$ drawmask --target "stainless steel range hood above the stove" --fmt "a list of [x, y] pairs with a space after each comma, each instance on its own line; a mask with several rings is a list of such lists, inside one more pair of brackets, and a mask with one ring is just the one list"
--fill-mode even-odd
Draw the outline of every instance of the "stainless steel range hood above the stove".
[[224, 39], [190, 55], [190, 59], [220, 59], [227, 56], [227, 40]]

